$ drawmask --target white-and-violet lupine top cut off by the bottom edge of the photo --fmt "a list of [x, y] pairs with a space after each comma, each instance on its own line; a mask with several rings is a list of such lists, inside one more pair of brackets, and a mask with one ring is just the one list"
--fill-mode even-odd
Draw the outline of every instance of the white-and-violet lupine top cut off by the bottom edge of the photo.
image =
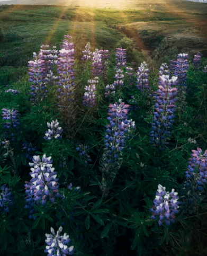
[[50, 228], [50, 231], [52, 234], [46, 234], [47, 246], [44, 252], [47, 252], [48, 256], [74, 255], [74, 246], [68, 247], [68, 243], [71, 241], [71, 239], [69, 239], [69, 235], [64, 233], [63, 236], [60, 236], [62, 227], [59, 227], [57, 234], [55, 234], [55, 230], [52, 227]]

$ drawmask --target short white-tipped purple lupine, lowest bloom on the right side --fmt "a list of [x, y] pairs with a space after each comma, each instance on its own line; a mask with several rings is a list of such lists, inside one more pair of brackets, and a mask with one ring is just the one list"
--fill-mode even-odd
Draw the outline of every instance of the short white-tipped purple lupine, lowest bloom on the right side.
[[170, 223], [175, 223], [175, 214], [179, 213], [177, 208], [179, 207], [177, 200], [179, 197], [177, 196], [177, 192], [174, 192], [175, 189], [172, 189], [172, 192], [166, 192], [165, 187], [158, 185], [158, 190], [156, 192], [156, 197], [154, 205], [150, 209], [152, 211], [151, 219], [156, 219], [159, 216], [158, 224], [159, 226], [163, 225], [163, 221], [165, 219], [165, 223], [170, 225]]

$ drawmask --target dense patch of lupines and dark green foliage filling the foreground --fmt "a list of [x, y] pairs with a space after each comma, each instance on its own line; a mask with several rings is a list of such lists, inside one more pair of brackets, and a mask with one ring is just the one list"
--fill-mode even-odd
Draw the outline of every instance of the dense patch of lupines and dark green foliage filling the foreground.
[[[29, 75], [1, 87], [1, 255], [46, 255], [45, 234], [60, 226], [71, 255], [203, 255], [206, 58], [196, 68], [179, 55], [177, 68], [170, 61], [151, 70], [125, 61], [122, 48], [91, 55], [87, 45], [93, 59], [78, 61], [66, 39], [50, 58], [42, 46]], [[171, 110], [160, 116], [166, 104]], [[152, 214], [162, 186], [179, 201], [170, 202], [170, 216], [157, 213], [166, 222]]]

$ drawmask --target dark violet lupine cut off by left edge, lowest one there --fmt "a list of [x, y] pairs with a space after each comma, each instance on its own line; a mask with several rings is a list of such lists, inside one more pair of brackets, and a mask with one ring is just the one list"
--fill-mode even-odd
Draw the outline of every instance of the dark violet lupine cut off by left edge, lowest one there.
[[0, 190], [0, 211], [10, 211], [9, 206], [14, 204], [14, 197], [12, 196], [11, 189], [6, 188], [6, 185], [2, 185]]

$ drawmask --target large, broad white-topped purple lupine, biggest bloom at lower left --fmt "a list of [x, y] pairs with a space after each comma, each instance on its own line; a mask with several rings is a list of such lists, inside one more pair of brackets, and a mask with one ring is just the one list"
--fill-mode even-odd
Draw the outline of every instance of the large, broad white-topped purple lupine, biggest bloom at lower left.
[[51, 156], [46, 157], [46, 154], [42, 156], [33, 156], [33, 163], [29, 163], [30, 175], [32, 179], [30, 182], [25, 181], [25, 207], [30, 210], [30, 219], [35, 219], [33, 216], [35, 209], [34, 204], [46, 205], [48, 199], [51, 202], [55, 202], [56, 197], [61, 197], [58, 192], [58, 178], [57, 172], [54, 172], [55, 168], [52, 167]]

